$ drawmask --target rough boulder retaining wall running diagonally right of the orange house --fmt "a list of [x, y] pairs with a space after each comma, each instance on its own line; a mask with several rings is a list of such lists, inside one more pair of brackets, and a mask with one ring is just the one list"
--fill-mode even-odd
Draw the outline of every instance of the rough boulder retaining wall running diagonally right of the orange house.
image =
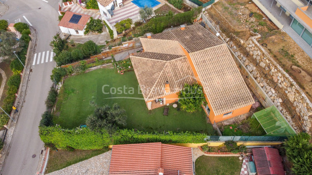
[[[204, 13], [208, 17], [207, 13]], [[286, 117], [293, 128], [299, 132], [293, 117], [298, 115], [300, 118], [301, 127], [310, 133], [311, 120], [312, 120], [312, 104], [297, 85], [297, 83], [276, 63], [270, 55], [263, 49], [263, 47], [256, 40], [260, 35], [252, 36], [247, 41], [236, 37], [231, 33], [231, 38], [228, 38], [221, 32], [219, 26], [212, 22], [212, 25], [217, 28], [221, 36], [228, 43], [235, 55], [246, 66], [248, 71], [260, 84], [265, 93], [273, 101], [274, 105]], [[256, 33], [254, 33], [256, 34]], [[231, 40], [232, 39], [232, 40]], [[234, 40], [237, 40], [239, 46], [235, 46]], [[239, 52], [239, 47], [244, 47], [249, 53], [243, 55]], [[267, 75], [267, 74], [269, 75]], [[272, 77], [272, 81], [270, 77]], [[284, 92], [275, 91], [275, 86], [278, 85], [279, 89]], [[283, 95], [285, 93], [285, 95]], [[284, 102], [287, 102], [284, 103]]]

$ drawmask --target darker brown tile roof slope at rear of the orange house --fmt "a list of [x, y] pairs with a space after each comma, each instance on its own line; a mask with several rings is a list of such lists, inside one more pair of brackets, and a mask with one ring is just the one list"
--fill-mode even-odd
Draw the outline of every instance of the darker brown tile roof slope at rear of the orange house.
[[[186, 26], [184, 30], [178, 28], [154, 34], [152, 39], [177, 40], [189, 53], [222, 45], [223, 43], [213, 33], [199, 24]], [[143, 48], [145, 49], [144, 46]]]

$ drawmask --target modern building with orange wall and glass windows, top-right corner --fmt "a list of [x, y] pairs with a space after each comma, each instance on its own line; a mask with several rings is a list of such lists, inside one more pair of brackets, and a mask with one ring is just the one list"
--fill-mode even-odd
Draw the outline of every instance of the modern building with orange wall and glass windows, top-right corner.
[[253, 0], [253, 2], [312, 58], [312, 1]]

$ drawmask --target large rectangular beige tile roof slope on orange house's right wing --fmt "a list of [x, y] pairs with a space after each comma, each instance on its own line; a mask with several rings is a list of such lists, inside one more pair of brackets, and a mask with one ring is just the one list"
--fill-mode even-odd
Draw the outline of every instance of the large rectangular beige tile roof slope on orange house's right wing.
[[255, 103], [225, 43], [190, 56], [215, 115]]

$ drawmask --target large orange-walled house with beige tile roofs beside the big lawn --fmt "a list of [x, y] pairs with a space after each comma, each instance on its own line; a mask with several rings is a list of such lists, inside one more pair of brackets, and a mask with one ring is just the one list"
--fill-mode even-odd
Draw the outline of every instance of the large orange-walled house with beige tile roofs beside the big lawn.
[[130, 56], [149, 110], [178, 101], [185, 83], [199, 83], [212, 123], [249, 112], [254, 99], [226, 43], [199, 24], [140, 38], [145, 52]]

